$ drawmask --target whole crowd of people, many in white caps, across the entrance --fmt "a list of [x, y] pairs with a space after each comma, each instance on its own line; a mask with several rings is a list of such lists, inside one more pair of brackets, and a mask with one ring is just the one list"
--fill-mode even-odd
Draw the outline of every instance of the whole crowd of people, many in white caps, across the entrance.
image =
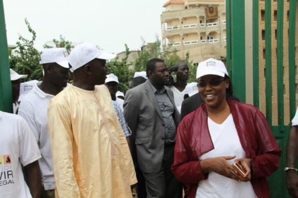
[[[41, 82], [10, 69], [18, 115], [0, 111], [1, 198], [269, 198], [281, 149], [260, 110], [233, 96], [222, 61], [200, 62], [193, 83], [179, 61], [169, 83], [152, 58], [123, 93], [114, 57], [83, 43], [45, 49]], [[295, 198], [297, 126], [298, 113], [285, 169]]]

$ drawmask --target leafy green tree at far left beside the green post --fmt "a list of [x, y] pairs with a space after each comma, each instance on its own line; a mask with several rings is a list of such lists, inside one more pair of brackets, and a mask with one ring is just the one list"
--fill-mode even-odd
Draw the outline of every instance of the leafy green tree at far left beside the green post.
[[28, 74], [26, 80], [41, 80], [42, 79], [42, 67], [39, 64], [40, 51], [34, 48], [34, 42], [36, 39], [36, 32], [31, 28], [27, 19], [25, 19], [28, 31], [32, 34], [31, 39], [26, 39], [21, 35], [16, 42], [16, 46], [11, 48], [16, 55], [10, 53], [9, 62], [10, 68], [19, 74]]

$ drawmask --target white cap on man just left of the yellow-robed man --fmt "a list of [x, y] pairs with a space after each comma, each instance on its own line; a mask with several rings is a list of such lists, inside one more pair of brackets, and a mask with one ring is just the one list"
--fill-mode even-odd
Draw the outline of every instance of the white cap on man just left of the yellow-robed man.
[[62, 67], [70, 68], [67, 61], [68, 56], [69, 54], [65, 48], [49, 48], [49, 49], [45, 49], [41, 53], [40, 55], [41, 61], [39, 63], [45, 64], [45, 63], [56, 62]]

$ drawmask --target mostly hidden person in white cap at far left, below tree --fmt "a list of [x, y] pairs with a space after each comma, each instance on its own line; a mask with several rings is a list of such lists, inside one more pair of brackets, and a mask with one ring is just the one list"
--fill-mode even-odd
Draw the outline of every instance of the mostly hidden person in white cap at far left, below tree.
[[13, 69], [10, 69], [11, 91], [12, 91], [12, 107], [13, 113], [16, 113], [18, 108], [18, 98], [20, 95], [20, 84], [22, 78], [27, 78], [28, 75], [20, 75]]

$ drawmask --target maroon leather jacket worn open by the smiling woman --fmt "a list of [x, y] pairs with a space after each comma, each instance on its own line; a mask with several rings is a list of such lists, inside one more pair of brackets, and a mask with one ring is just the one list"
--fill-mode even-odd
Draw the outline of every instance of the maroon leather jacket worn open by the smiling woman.
[[[267, 120], [253, 105], [227, 99], [246, 158], [251, 159], [251, 184], [259, 198], [269, 198], [266, 177], [279, 167], [282, 154]], [[180, 122], [176, 135], [174, 164], [175, 177], [188, 184], [186, 195], [195, 198], [200, 180], [208, 179], [199, 157], [214, 149], [208, 129], [206, 105], [188, 114]]]

